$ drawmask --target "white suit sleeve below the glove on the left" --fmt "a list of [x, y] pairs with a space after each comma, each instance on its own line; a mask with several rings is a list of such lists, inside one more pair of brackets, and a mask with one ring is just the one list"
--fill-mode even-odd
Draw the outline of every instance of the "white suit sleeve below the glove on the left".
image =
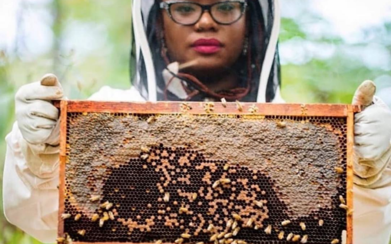
[[6, 141], [3, 177], [5, 216], [29, 235], [52, 243], [57, 234], [58, 147], [41, 148], [43, 154], [39, 153], [40, 149], [33, 152], [17, 123]]

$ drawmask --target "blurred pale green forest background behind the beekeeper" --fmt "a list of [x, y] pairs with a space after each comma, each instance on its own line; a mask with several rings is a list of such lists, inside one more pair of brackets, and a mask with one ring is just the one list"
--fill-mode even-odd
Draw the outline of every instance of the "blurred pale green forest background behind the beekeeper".
[[[390, 1], [281, 0], [281, 9], [288, 102], [348, 104], [372, 79], [391, 105]], [[103, 85], [129, 88], [130, 43], [130, 0], [0, 0], [0, 192], [17, 89], [47, 72], [70, 99]], [[8, 243], [40, 242], [5, 220], [0, 201], [0, 244]]]

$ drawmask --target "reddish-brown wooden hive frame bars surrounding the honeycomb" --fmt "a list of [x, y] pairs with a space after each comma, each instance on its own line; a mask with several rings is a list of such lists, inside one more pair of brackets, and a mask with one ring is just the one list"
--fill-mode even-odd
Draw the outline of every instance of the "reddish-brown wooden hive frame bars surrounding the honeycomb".
[[[183, 105], [190, 106], [191, 110], [184, 110]], [[354, 145], [354, 114], [361, 111], [358, 106], [329, 105], [329, 104], [253, 104], [243, 103], [242, 111], [238, 110], [236, 103], [214, 103], [212, 112], [205, 111], [205, 103], [118, 103], [97, 101], [62, 100], [55, 103], [60, 107], [60, 198], [58, 211], [58, 236], [64, 236], [64, 220], [61, 214], [64, 212], [65, 193], [65, 164], [66, 164], [66, 137], [67, 137], [67, 113], [68, 112], [97, 112], [97, 113], [136, 113], [136, 114], [229, 114], [229, 115], [276, 115], [276, 116], [331, 116], [346, 118], [347, 121], [347, 170], [346, 170], [346, 204], [353, 209], [353, 145]], [[256, 106], [258, 111], [249, 110]], [[250, 112], [251, 111], [251, 112]], [[353, 244], [353, 215], [347, 215], [347, 244]], [[74, 244], [90, 244], [92, 242], [74, 241]], [[93, 242], [95, 244], [134, 244], [133, 242]], [[140, 243], [147, 244], [147, 243]]]

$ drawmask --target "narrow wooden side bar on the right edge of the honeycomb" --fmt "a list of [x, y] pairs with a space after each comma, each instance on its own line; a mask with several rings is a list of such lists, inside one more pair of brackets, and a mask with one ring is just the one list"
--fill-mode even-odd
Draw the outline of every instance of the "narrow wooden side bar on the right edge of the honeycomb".
[[354, 111], [348, 106], [347, 114], [347, 167], [346, 167], [346, 202], [348, 211], [346, 214], [347, 244], [353, 244], [353, 146], [354, 146]]

